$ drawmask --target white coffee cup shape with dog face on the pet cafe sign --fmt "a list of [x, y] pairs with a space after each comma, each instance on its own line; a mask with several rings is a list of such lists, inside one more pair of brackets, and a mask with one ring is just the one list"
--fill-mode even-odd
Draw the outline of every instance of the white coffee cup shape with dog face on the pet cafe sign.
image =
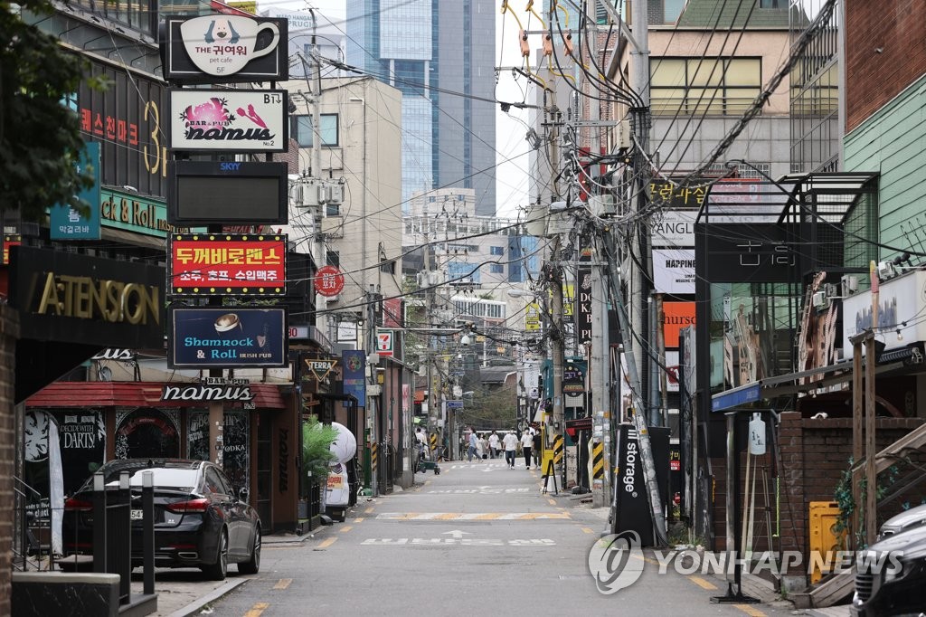
[[[270, 44], [257, 47], [257, 34], [270, 31]], [[207, 15], [187, 19], [180, 26], [183, 46], [197, 68], [209, 75], [233, 75], [256, 57], [267, 56], [280, 42], [272, 22], [258, 23], [243, 15]]]

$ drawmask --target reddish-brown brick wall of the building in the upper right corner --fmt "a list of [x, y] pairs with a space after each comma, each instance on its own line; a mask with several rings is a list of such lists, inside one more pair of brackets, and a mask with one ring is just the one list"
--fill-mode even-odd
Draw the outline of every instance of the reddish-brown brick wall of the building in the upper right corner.
[[845, 6], [849, 132], [926, 73], [926, 3], [882, 0]]

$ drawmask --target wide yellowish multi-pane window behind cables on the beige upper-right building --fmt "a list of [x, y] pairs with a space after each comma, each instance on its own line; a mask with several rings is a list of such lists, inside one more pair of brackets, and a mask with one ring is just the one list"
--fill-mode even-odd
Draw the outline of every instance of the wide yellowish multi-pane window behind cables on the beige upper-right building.
[[762, 59], [654, 58], [650, 62], [654, 116], [740, 116], [762, 85]]

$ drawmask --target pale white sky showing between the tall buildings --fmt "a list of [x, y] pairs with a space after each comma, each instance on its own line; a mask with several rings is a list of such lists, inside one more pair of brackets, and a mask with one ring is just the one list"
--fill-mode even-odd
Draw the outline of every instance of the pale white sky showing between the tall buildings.
[[[519, 6], [519, 13], [523, 13], [526, 0], [515, 0], [510, 3]], [[541, 3], [537, 3], [540, 5]], [[257, 7], [259, 10], [266, 10], [270, 6], [277, 6], [291, 11], [307, 10], [309, 6], [319, 10], [319, 14], [324, 18], [344, 19], [345, 0], [275, 0], [267, 2], [258, 0]], [[518, 26], [510, 13], [506, 16], [501, 14], [499, 7], [500, 2], [490, 0], [488, 5], [496, 12], [495, 17], [495, 57], [497, 66], [510, 67], [520, 64], [518, 48]], [[538, 9], [539, 10], [539, 9]], [[520, 19], [524, 19], [519, 15]], [[500, 39], [503, 30], [503, 19], [505, 37], [507, 39], [504, 50], [501, 48]], [[319, 19], [320, 20], [320, 19]], [[540, 36], [534, 35], [531, 43], [532, 48], [540, 46]], [[502, 54], [504, 51], [504, 54]], [[530, 93], [532, 97], [533, 94]], [[521, 102], [524, 100], [524, 94], [512, 78], [511, 72], [503, 71], [499, 78], [496, 98], [507, 102]], [[527, 142], [524, 136], [528, 130], [528, 112], [512, 107], [508, 114], [501, 111], [500, 107], [495, 110], [495, 160], [498, 167], [495, 170], [495, 195], [498, 203], [496, 204], [497, 216], [500, 218], [516, 218], [518, 216], [518, 207], [523, 207], [528, 203], [528, 151]], [[521, 156], [518, 156], [521, 155]], [[516, 157], [515, 160], [504, 163], [509, 157]]]

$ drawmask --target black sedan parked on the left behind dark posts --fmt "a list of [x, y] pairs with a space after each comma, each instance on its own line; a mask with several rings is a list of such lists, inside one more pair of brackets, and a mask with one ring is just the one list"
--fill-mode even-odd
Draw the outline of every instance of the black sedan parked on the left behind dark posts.
[[[247, 504], [247, 488], [236, 494], [219, 466], [206, 460], [111, 460], [100, 468], [106, 490], [119, 488], [121, 472], [131, 487], [131, 560], [142, 565], [143, 473], [152, 472], [155, 502], [155, 565], [198, 567], [223, 580], [229, 562], [238, 572], [260, 568], [260, 519]], [[63, 568], [74, 569], [73, 555], [93, 555], [94, 478], [65, 502], [62, 525]]]

